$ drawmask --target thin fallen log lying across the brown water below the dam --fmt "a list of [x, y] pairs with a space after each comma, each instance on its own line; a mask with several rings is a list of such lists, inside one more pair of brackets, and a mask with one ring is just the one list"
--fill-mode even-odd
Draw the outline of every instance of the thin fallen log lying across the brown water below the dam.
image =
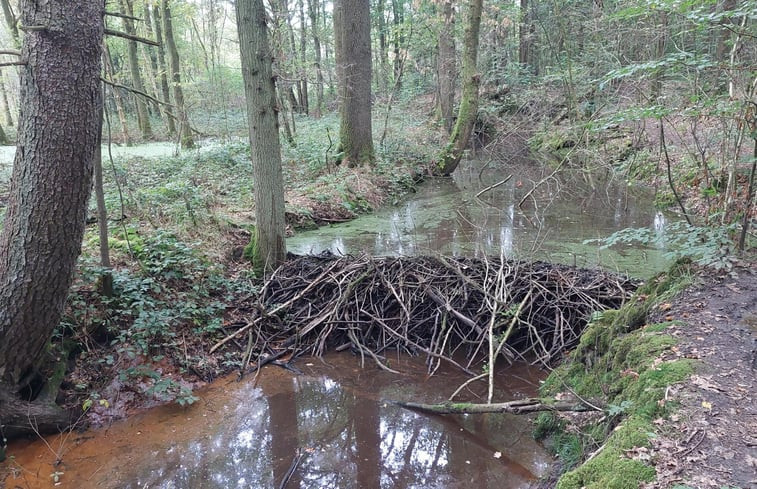
[[537, 397], [518, 399], [517, 401], [492, 404], [474, 404], [469, 402], [443, 402], [440, 404], [423, 404], [418, 402], [387, 401], [396, 406], [432, 414], [484, 414], [509, 413], [528, 414], [540, 411], [598, 411], [595, 406], [580, 401], [557, 401]]

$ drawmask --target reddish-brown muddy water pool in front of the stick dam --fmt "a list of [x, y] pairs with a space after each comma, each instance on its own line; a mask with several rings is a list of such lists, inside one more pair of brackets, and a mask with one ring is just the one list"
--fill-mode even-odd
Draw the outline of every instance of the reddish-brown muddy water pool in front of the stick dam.
[[[302, 489], [516, 489], [546, 475], [553, 459], [532, 439], [528, 417], [398, 408], [388, 401], [442, 401], [468, 377], [444, 366], [427, 377], [418, 358], [391, 363], [403, 373], [335, 354], [298, 360], [302, 375], [266, 367], [257, 379], [220, 379], [186, 409], [13, 442], [0, 473], [14, 474], [9, 489], [278, 488], [284, 480]], [[525, 365], [502, 368], [495, 402], [533, 395], [541, 377]], [[474, 384], [462, 398], [484, 402], [485, 389]]]

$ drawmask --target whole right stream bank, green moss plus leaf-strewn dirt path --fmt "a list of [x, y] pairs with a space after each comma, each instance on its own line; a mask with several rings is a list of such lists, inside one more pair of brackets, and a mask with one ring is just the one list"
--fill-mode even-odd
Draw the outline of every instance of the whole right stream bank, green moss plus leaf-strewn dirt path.
[[608, 406], [537, 419], [558, 489], [754, 487], [755, 279], [679, 263], [595, 317], [541, 389]]

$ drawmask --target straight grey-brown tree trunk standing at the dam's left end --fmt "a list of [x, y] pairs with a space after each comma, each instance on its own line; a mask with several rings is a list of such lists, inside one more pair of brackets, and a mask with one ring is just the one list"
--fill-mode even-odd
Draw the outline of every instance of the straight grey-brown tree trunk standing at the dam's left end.
[[284, 178], [273, 59], [263, 0], [237, 0], [236, 11], [255, 198], [255, 233], [248, 256], [257, 271], [270, 271], [286, 260]]

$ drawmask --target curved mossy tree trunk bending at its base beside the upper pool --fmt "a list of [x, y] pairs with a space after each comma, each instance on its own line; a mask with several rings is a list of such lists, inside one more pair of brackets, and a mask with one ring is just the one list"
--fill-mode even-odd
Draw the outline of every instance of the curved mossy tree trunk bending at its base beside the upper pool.
[[465, 22], [465, 36], [463, 40], [463, 63], [461, 76], [463, 79], [463, 93], [460, 108], [457, 112], [457, 122], [452, 129], [452, 135], [447, 146], [439, 155], [439, 161], [434, 168], [437, 175], [450, 175], [468, 145], [473, 126], [478, 115], [478, 86], [481, 77], [476, 68], [478, 63], [478, 37], [481, 27], [481, 10], [484, 0], [470, 0], [468, 2], [468, 17]]

